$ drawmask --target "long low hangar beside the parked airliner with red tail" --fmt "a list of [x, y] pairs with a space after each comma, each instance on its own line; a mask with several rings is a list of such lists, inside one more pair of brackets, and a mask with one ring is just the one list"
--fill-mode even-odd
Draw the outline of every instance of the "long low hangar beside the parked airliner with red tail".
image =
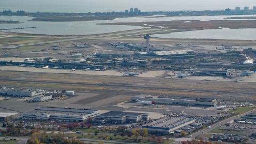
[[137, 95], [132, 97], [133, 101], [137, 99], [142, 101], [155, 101], [156, 103], [168, 103], [169, 105], [194, 105], [194, 106], [209, 106], [214, 107], [220, 103], [219, 99], [204, 99], [204, 98], [182, 98], [182, 97], [164, 97], [153, 95]]

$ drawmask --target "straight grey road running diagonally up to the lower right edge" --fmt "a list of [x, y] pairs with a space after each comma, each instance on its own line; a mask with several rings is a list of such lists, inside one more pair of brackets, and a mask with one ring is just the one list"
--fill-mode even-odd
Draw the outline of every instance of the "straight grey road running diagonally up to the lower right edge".
[[[253, 109], [252, 111], [255, 111], [255, 110], [256, 109]], [[220, 127], [222, 125], [225, 125], [227, 122], [230, 122], [230, 121], [232, 121], [234, 119], [240, 118], [242, 115], [246, 115], [246, 114], [249, 114], [249, 113], [251, 113], [251, 111], [248, 111], [247, 113], [244, 113], [244, 114], [241, 114], [241, 115], [238, 115], [238, 116], [230, 117], [228, 119], [225, 119], [224, 121], [221, 121], [219, 123], [213, 124], [213, 125], [211, 125], [211, 129], [204, 129], [204, 130], [198, 131], [198, 132], [194, 133], [191, 138], [194, 139], [198, 135], [202, 134], [202, 132], [203, 133], [208, 133], [209, 131], [212, 131], [212, 130], [217, 129], [218, 127]]]

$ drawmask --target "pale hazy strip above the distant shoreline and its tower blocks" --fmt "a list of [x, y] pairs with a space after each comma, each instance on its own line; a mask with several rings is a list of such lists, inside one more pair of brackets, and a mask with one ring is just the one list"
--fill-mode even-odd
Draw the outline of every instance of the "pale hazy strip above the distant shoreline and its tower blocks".
[[0, 11], [111, 12], [138, 7], [141, 11], [220, 10], [256, 6], [255, 0], [0, 0]]

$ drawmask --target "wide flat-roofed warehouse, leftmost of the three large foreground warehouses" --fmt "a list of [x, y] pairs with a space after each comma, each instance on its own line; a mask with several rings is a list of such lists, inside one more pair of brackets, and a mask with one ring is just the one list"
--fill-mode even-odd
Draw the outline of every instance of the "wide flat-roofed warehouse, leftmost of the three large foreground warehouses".
[[35, 118], [39, 121], [49, 119], [63, 119], [70, 122], [83, 122], [88, 117], [99, 114], [99, 110], [83, 108], [39, 107], [28, 113], [23, 113], [25, 118]]

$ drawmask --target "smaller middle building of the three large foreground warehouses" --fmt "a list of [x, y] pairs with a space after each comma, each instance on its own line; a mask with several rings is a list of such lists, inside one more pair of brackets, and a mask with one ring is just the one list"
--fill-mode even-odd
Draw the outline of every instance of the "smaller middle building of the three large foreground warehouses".
[[123, 111], [109, 111], [96, 116], [96, 118], [106, 119], [112, 123], [138, 123], [141, 120], [147, 121], [149, 119], [149, 114], [145, 113], [131, 113]]

